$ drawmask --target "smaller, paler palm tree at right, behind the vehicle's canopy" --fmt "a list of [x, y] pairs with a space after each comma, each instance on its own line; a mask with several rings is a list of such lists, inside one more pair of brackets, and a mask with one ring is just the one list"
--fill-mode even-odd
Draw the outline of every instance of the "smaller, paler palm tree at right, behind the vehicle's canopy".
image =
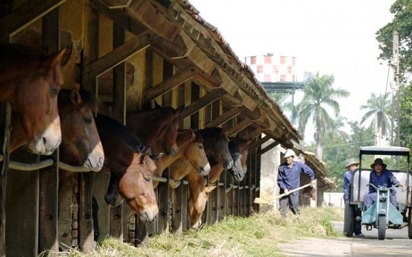
[[369, 127], [373, 127], [376, 133], [376, 145], [381, 145], [382, 138], [387, 136], [391, 128], [389, 110], [391, 109], [391, 100], [389, 94], [379, 95], [372, 93], [365, 106], [361, 110], [367, 110], [361, 119], [363, 124], [367, 119], [371, 119]]

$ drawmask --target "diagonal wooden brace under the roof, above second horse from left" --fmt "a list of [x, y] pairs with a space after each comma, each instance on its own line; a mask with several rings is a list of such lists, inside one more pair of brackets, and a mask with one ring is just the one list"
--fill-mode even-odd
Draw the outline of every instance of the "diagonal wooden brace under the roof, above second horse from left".
[[109, 69], [112, 69], [114, 66], [117, 66], [119, 63], [124, 62], [130, 56], [133, 56], [138, 51], [148, 47], [150, 38], [153, 35], [150, 32], [144, 32], [140, 36], [128, 40], [120, 47], [113, 49], [113, 51], [106, 53], [98, 60], [95, 60], [86, 67], [87, 77], [96, 77]]

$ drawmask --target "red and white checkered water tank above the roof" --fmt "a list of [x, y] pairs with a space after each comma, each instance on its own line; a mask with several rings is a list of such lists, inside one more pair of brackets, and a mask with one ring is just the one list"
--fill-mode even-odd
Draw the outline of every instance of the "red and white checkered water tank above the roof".
[[296, 58], [291, 56], [248, 56], [244, 58], [260, 82], [296, 82]]

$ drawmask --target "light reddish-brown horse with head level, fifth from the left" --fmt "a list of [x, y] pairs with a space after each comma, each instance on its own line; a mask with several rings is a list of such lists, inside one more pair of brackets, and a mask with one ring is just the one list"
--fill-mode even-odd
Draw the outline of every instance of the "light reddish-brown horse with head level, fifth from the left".
[[[207, 175], [209, 173], [210, 165], [203, 147], [203, 137], [200, 133], [192, 129], [180, 131], [176, 138], [176, 143], [179, 147], [178, 153], [174, 156], [162, 156], [159, 158], [156, 161], [157, 169], [155, 175], [161, 176], [163, 170], [179, 158], [186, 160], [187, 164], [201, 175]], [[176, 176], [174, 177], [176, 178]], [[159, 182], [153, 183], [155, 187], [159, 184]]]

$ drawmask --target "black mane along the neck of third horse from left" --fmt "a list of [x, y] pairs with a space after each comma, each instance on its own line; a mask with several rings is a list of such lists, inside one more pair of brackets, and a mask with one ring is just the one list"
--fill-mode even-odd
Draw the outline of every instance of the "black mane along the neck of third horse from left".
[[98, 114], [96, 118], [96, 123], [103, 123], [104, 127], [111, 130], [116, 136], [119, 136], [126, 144], [136, 151], [141, 153], [146, 149], [146, 146], [141, 143], [141, 140], [137, 137], [135, 133], [129, 130], [126, 126], [111, 117], [107, 117], [103, 114]]

